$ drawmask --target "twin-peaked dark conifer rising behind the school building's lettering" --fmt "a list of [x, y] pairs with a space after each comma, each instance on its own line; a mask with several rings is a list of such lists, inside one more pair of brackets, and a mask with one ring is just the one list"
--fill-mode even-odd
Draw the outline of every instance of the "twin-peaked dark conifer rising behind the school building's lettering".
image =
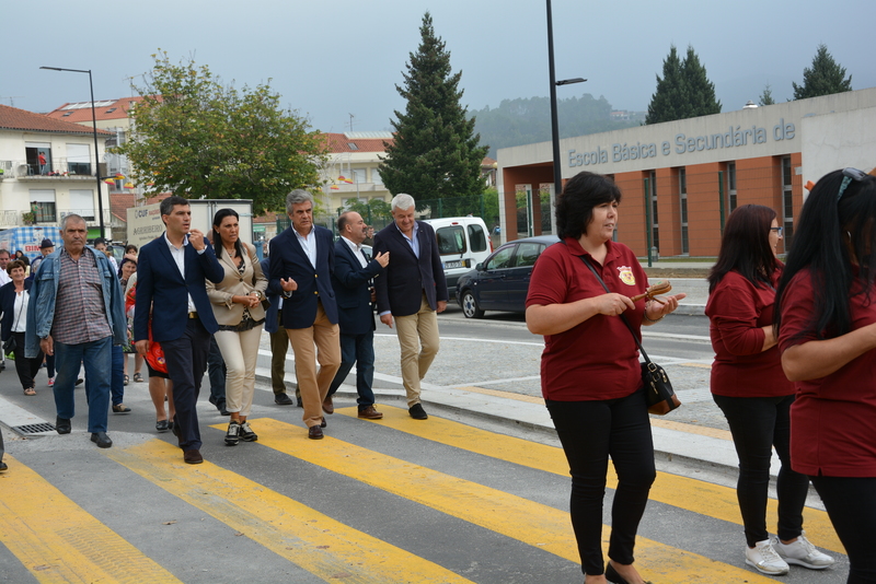
[[664, 59], [664, 77], [657, 75], [657, 91], [648, 104], [645, 124], [660, 124], [721, 113], [721, 102], [715, 98], [715, 85], [706, 77], [700, 57], [688, 46], [688, 54], [679, 59], [675, 45]]

